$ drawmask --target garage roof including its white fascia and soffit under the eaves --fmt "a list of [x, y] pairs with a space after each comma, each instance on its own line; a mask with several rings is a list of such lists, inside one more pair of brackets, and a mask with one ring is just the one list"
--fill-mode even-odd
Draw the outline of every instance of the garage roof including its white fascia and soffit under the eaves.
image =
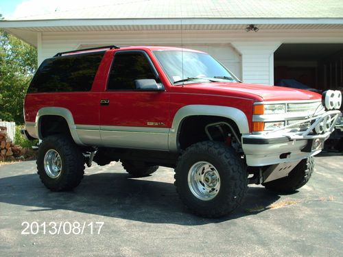
[[[315, 30], [342, 32], [342, 0], [116, 0], [110, 5], [60, 7], [55, 12], [0, 21], [0, 28], [38, 45], [40, 32], [226, 30], [244, 33]], [[96, 5], [98, 4], [98, 5]]]

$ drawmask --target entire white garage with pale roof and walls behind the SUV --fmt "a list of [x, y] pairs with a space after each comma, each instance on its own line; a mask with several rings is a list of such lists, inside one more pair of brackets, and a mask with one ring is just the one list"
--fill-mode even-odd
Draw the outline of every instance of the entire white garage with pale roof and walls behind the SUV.
[[[99, 45], [169, 45], [206, 51], [244, 82], [272, 85], [279, 47], [343, 44], [341, 5], [336, 0], [325, 5], [319, 0], [121, 1], [17, 17], [0, 21], [0, 27], [37, 47], [38, 62], [59, 51]], [[287, 51], [292, 48], [282, 54]]]

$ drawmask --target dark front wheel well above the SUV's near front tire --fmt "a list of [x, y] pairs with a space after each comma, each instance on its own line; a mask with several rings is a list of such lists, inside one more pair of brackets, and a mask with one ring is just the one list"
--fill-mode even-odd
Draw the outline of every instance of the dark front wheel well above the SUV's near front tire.
[[[206, 134], [206, 125], [219, 122], [228, 123], [235, 131], [235, 134], [240, 138], [239, 129], [236, 123], [231, 119], [217, 116], [190, 116], [185, 118], [181, 124], [180, 134], [178, 137], [180, 149], [184, 150], [194, 143], [211, 140], [211, 138]], [[209, 130], [209, 133], [213, 140], [224, 142], [226, 140], [225, 135], [232, 134], [230, 127], [223, 126], [222, 132], [220, 132], [220, 130], [213, 129]]]

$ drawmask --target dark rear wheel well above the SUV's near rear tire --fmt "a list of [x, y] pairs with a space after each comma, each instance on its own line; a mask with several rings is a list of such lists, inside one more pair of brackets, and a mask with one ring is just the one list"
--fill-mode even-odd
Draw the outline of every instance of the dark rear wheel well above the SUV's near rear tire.
[[45, 138], [53, 134], [71, 136], [67, 121], [58, 115], [44, 115], [39, 119], [39, 136]]

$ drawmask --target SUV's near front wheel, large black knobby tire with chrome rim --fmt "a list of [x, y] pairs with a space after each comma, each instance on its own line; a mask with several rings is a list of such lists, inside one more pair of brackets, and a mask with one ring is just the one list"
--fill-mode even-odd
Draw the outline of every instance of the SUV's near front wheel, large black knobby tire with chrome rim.
[[180, 156], [175, 185], [191, 212], [222, 217], [241, 204], [248, 189], [248, 174], [232, 147], [205, 141], [191, 145]]

